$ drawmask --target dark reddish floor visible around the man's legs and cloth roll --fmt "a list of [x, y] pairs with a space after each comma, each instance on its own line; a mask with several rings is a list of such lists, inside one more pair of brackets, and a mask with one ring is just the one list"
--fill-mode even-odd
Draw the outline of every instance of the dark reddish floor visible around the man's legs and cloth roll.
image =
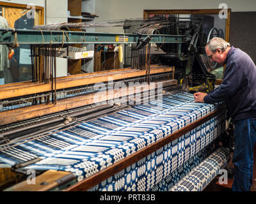
[[[232, 155], [230, 162], [227, 164], [227, 168], [229, 168], [230, 170], [234, 169], [234, 165], [232, 164]], [[253, 151], [253, 159], [253, 184], [251, 187], [251, 191], [256, 191], [256, 145]], [[218, 179], [219, 177], [216, 177], [214, 180], [212, 180], [212, 182], [207, 187], [205, 187], [204, 191], [230, 191], [234, 179], [230, 177], [228, 178], [228, 184], [222, 185], [218, 182]]]

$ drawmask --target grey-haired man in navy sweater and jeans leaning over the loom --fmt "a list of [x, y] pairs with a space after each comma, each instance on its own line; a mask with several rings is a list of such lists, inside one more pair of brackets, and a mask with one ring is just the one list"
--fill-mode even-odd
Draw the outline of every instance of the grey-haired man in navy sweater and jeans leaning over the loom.
[[208, 94], [196, 92], [195, 102], [226, 102], [235, 124], [232, 191], [250, 191], [256, 142], [256, 67], [248, 54], [222, 38], [212, 38], [205, 52], [211, 61], [226, 64], [226, 68], [221, 85]]

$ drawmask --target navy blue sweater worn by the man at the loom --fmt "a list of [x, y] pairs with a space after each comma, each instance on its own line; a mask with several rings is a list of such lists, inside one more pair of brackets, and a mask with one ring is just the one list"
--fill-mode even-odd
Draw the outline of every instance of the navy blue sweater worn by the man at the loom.
[[205, 103], [226, 101], [234, 120], [256, 117], [256, 66], [248, 54], [231, 47], [225, 60], [223, 81], [204, 97]]

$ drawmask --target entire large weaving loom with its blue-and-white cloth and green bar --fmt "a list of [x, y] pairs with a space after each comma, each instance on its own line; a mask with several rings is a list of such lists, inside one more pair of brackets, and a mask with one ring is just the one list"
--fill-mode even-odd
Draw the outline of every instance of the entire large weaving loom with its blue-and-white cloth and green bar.
[[[2, 189], [202, 191], [229, 159], [228, 148], [213, 145], [225, 133], [225, 106], [194, 103], [174, 67], [150, 64], [145, 52], [152, 43], [177, 44], [182, 61], [198, 58], [197, 25], [184, 34], [155, 27], [149, 36], [2, 29], [1, 44], [31, 44], [33, 65], [31, 82], [0, 88], [0, 164], [22, 177], [12, 186], [2, 174]], [[57, 50], [84, 43], [131, 43], [138, 67], [54, 77]], [[148, 57], [138, 61], [143, 53]], [[29, 170], [36, 172], [35, 185], [28, 184]], [[182, 181], [189, 173], [191, 184]]]

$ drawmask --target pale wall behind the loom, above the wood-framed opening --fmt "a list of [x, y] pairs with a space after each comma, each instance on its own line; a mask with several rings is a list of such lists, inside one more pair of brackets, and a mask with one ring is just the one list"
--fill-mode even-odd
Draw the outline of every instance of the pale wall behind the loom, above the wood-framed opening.
[[[256, 11], [256, 0], [95, 0], [95, 21], [143, 18], [143, 10], [218, 9], [225, 3], [231, 11]], [[112, 29], [109, 33], [121, 31]], [[97, 29], [99, 31], [99, 29]], [[103, 29], [102, 29], [103, 31]], [[106, 31], [106, 30], [105, 30]], [[106, 31], [108, 32], [108, 31]], [[122, 31], [121, 31], [122, 32]]]

